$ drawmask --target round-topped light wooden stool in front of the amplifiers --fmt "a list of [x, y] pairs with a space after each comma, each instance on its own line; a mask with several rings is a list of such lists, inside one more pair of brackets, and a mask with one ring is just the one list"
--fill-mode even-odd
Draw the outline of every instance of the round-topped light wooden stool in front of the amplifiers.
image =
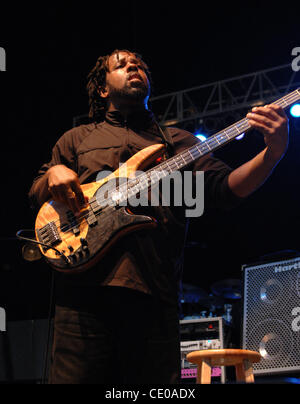
[[198, 365], [197, 384], [210, 384], [211, 368], [215, 366], [235, 366], [238, 382], [254, 383], [252, 363], [259, 362], [261, 355], [243, 349], [208, 349], [190, 352], [186, 358]]

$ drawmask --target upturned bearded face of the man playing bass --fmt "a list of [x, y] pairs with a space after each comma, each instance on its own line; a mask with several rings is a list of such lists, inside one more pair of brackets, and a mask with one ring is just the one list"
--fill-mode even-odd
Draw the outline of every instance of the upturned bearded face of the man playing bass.
[[143, 65], [133, 54], [116, 53], [109, 58], [106, 87], [101, 95], [111, 100], [132, 100], [147, 103], [150, 83]]

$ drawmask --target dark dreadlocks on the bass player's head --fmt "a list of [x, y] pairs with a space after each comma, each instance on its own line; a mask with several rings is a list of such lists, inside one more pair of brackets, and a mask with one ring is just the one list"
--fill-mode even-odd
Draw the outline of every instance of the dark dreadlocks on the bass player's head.
[[106, 73], [109, 72], [109, 58], [120, 52], [133, 54], [137, 59], [141, 61], [141, 64], [148, 76], [150, 84], [152, 84], [151, 73], [149, 67], [142, 60], [142, 56], [136, 52], [125, 50], [114, 50], [110, 55], [100, 56], [96, 62], [95, 67], [88, 74], [87, 91], [89, 96], [89, 118], [95, 122], [101, 122], [104, 119], [107, 102], [104, 98], [100, 97], [99, 92], [105, 89], [106, 85]]

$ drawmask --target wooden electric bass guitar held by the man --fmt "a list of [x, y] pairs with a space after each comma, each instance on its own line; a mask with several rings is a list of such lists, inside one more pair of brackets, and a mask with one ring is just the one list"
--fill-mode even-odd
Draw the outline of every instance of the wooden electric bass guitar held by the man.
[[[299, 99], [300, 88], [274, 104], [285, 109]], [[165, 152], [163, 144], [147, 147], [106, 178], [82, 185], [89, 203], [76, 216], [65, 205], [55, 201], [46, 202], [36, 217], [35, 235], [47, 262], [60, 272], [82, 272], [98, 262], [127, 233], [156, 226], [157, 222], [152, 217], [133, 214], [126, 201], [148, 192], [155, 182], [185, 169], [193, 161], [214, 152], [250, 129], [248, 119], [244, 118], [206, 141], [136, 175], [137, 171], [153, 165]], [[120, 184], [110, 188], [109, 184], [115, 184], [116, 180]]]

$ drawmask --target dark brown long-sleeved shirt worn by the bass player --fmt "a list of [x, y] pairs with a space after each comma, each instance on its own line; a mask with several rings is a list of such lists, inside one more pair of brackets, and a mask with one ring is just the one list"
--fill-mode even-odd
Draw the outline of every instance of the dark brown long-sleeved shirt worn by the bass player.
[[[168, 130], [175, 154], [198, 142], [187, 131]], [[66, 165], [78, 174], [81, 184], [89, 183], [95, 181], [101, 171], [113, 172], [140, 150], [158, 143], [164, 140], [150, 111], [129, 116], [126, 121], [117, 111], [107, 113], [105, 121], [73, 128], [58, 140], [51, 161], [40, 168], [29, 196], [34, 202], [36, 181], [54, 165]], [[193, 163], [189, 170], [205, 172], [205, 209], [226, 210], [239, 203], [240, 199], [228, 186], [232, 170], [220, 160], [207, 155]], [[84, 274], [60, 275], [60, 298], [68, 300], [70, 296], [72, 300], [79, 290], [83, 296], [83, 290], [109, 285], [149, 294], [155, 292], [163, 301], [175, 303], [185, 219], [182, 209], [159, 207], [151, 209], [151, 213], [158, 220], [156, 229], [122, 238], [99, 264]]]

